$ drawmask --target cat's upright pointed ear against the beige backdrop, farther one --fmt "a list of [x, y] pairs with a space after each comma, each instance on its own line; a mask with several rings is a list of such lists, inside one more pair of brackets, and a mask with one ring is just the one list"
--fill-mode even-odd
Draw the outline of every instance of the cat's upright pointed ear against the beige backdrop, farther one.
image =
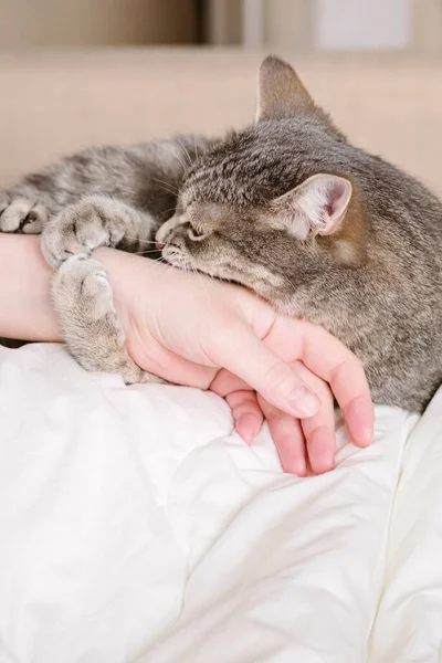
[[293, 117], [299, 110], [314, 113], [313, 98], [290, 64], [269, 55], [260, 67], [255, 120]]

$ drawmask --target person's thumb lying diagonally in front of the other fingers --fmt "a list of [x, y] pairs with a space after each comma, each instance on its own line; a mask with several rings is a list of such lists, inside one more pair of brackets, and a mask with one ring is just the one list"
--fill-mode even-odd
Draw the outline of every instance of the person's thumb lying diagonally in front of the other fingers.
[[248, 382], [270, 403], [299, 419], [313, 417], [319, 399], [299, 378], [296, 370], [282, 361], [244, 324], [229, 325], [215, 338], [207, 355]]

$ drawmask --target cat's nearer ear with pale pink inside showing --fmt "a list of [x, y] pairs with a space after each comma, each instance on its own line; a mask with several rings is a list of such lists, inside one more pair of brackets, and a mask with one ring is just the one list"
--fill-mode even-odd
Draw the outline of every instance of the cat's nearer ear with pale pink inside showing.
[[351, 200], [351, 183], [337, 175], [314, 175], [272, 202], [272, 211], [302, 240], [332, 235], [340, 228]]

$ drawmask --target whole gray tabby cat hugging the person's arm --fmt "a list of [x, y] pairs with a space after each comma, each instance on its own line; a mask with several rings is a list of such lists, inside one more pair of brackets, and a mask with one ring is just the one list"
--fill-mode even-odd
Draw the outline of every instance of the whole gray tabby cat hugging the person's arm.
[[[442, 380], [441, 202], [351, 146], [273, 56], [260, 70], [253, 125], [213, 145], [201, 140], [204, 154], [194, 159], [193, 150], [186, 170], [186, 150], [160, 145], [167, 158], [159, 146], [86, 152], [27, 178], [3, 203], [1, 230], [43, 228], [44, 254], [59, 267], [55, 303], [78, 361], [145, 379], [125, 354], [106, 276], [88, 256], [99, 244], [138, 249], [159, 228], [169, 263], [240, 283], [323, 325], [361, 359], [376, 402], [422, 410]], [[149, 188], [158, 168], [180, 189], [162, 224], [166, 208], [152, 212]], [[61, 209], [91, 189], [94, 198]]]

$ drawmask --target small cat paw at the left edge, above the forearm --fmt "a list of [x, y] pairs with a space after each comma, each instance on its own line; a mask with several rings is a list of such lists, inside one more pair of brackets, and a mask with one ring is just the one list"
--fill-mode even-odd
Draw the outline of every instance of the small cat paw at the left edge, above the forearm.
[[0, 232], [40, 234], [46, 221], [48, 211], [43, 204], [0, 193]]

